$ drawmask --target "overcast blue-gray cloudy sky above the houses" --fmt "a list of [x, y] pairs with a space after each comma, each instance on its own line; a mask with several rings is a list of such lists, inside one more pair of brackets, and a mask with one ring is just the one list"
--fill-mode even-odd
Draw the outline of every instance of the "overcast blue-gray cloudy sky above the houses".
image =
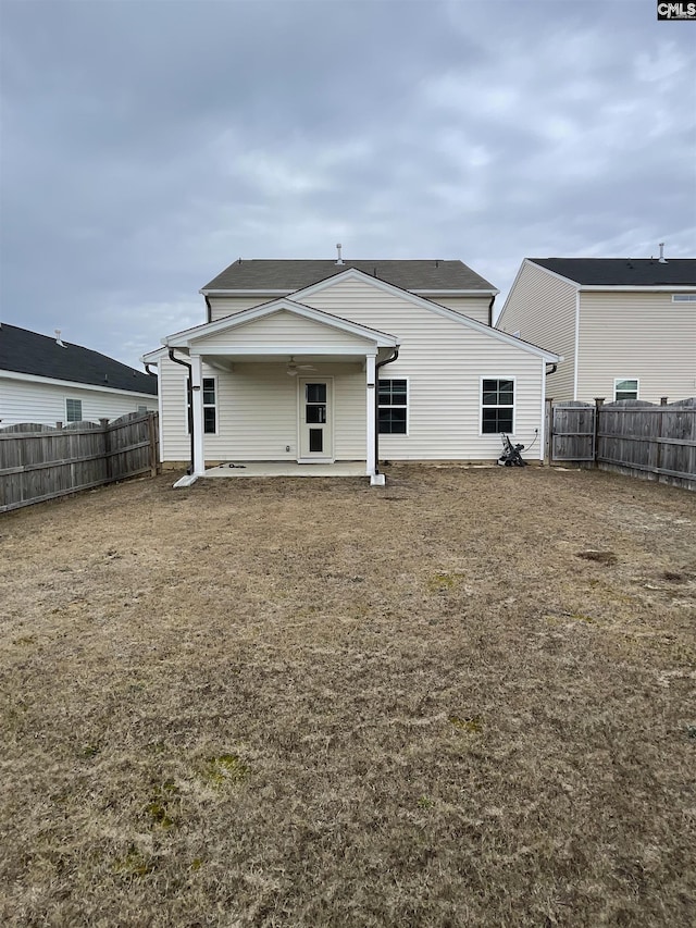
[[0, 0], [0, 322], [134, 367], [239, 257], [696, 256], [654, 0]]

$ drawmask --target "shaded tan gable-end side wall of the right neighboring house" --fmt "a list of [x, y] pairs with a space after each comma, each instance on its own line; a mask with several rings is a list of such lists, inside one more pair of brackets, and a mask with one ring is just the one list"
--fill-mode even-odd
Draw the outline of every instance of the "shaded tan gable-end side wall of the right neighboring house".
[[558, 370], [546, 380], [546, 394], [554, 399], [573, 399], [575, 357], [576, 287], [523, 263], [505, 302], [496, 329], [555, 351], [563, 357]]

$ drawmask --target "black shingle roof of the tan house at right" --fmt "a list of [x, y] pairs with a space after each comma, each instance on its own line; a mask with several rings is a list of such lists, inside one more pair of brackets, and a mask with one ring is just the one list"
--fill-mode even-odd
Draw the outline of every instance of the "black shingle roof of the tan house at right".
[[585, 286], [696, 287], [696, 258], [530, 258], [535, 264]]

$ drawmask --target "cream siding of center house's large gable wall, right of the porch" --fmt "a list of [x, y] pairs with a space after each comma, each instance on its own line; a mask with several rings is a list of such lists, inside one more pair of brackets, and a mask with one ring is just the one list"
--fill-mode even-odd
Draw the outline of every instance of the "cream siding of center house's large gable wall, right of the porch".
[[382, 458], [497, 458], [499, 435], [480, 434], [480, 378], [484, 366], [486, 371], [514, 371], [514, 434], [531, 444], [534, 430], [539, 428], [545, 371], [542, 358], [362, 281], [344, 281], [301, 299], [399, 338], [399, 358], [382, 368], [380, 378], [408, 378], [409, 434], [380, 435]]

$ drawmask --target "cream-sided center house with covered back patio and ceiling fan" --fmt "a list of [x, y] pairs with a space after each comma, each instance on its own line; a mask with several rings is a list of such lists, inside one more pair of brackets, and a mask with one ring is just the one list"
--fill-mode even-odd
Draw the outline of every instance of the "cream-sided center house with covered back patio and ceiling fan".
[[493, 329], [498, 290], [461, 261], [239, 259], [200, 293], [206, 321], [142, 358], [164, 463], [361, 461], [382, 483], [380, 458], [495, 460], [504, 431], [542, 458], [559, 358]]

